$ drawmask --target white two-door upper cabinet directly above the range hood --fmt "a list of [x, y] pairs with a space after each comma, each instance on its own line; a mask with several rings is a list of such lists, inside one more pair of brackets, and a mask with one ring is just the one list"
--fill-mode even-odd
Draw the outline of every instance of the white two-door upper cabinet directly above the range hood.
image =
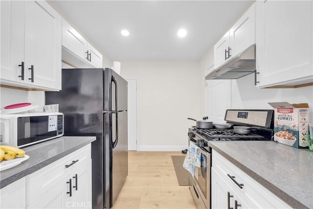
[[255, 3], [214, 45], [214, 66], [223, 65], [247, 47], [255, 44]]

